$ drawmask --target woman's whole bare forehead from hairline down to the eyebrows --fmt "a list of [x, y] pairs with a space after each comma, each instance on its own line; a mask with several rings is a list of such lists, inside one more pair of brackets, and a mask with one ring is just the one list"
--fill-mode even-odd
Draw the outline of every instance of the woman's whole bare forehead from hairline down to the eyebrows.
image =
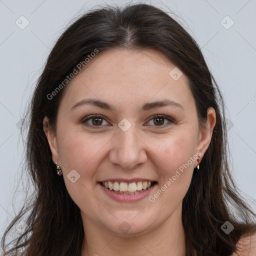
[[99, 52], [69, 82], [65, 102], [93, 97], [117, 104], [126, 102], [127, 106], [169, 96], [182, 104], [192, 94], [184, 74], [177, 80], [169, 74], [173, 68], [177, 67], [159, 50], [113, 48]]

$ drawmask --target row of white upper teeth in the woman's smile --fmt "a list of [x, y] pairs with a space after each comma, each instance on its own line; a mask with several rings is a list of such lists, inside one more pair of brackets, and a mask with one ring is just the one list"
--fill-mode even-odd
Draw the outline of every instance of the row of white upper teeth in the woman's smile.
[[135, 191], [139, 191], [142, 189], [147, 189], [151, 186], [152, 182], [150, 181], [138, 181], [136, 182], [131, 182], [131, 183], [127, 183], [127, 182], [118, 182], [118, 181], [104, 181], [102, 182], [102, 184], [106, 187], [109, 188], [110, 190], [114, 190], [114, 191], [121, 191], [121, 192], [135, 192]]

